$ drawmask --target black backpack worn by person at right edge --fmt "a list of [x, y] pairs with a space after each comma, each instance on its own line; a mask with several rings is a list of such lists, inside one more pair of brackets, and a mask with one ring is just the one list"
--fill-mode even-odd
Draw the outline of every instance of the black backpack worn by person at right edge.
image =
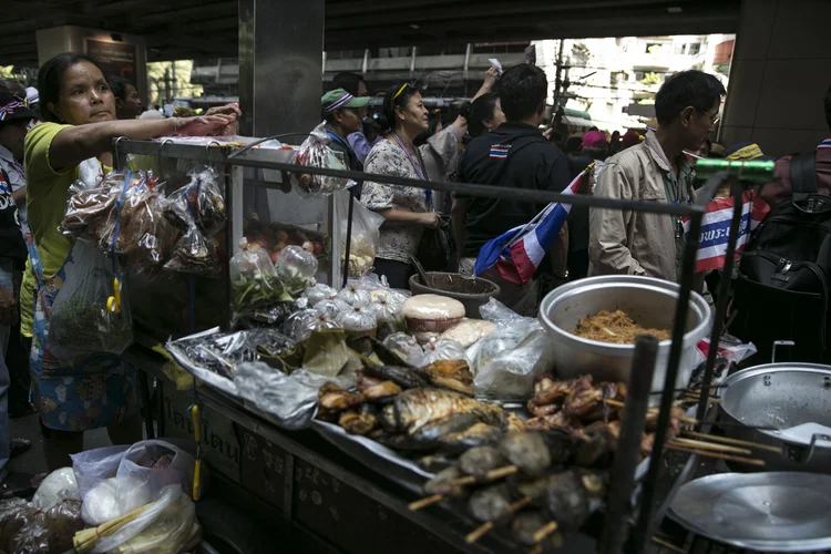
[[831, 361], [831, 196], [817, 192], [814, 157], [793, 156], [791, 197], [753, 232], [739, 264], [729, 330], [763, 362], [776, 340], [796, 343], [780, 360]]

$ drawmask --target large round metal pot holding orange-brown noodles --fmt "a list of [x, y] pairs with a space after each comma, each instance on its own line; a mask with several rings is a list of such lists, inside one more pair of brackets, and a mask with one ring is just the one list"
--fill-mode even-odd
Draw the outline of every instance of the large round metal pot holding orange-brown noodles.
[[[628, 382], [634, 345], [613, 345], [588, 340], [571, 330], [577, 320], [601, 310], [620, 309], [646, 328], [671, 329], [680, 287], [675, 283], [652, 277], [609, 275], [589, 277], [557, 287], [540, 306], [540, 322], [554, 345], [557, 376], [571, 379], [591, 373], [604, 381]], [[710, 330], [710, 307], [693, 293], [684, 335], [684, 350], [676, 387], [686, 387], [699, 360], [696, 347]], [[653, 390], [664, 388], [671, 340], [658, 345], [658, 359], [653, 376]], [[652, 403], [659, 401], [655, 394]]]

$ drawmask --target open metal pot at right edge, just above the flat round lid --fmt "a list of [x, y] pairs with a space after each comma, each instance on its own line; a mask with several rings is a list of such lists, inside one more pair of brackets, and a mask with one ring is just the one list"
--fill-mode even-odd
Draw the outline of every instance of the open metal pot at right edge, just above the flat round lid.
[[732, 423], [725, 425], [728, 437], [780, 449], [753, 451], [765, 471], [831, 473], [831, 366], [756, 366], [731, 375], [719, 390], [719, 419]]

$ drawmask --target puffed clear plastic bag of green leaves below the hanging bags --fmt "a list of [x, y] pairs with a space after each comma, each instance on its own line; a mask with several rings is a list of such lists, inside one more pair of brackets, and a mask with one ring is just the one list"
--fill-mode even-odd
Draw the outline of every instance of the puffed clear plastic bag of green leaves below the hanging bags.
[[234, 309], [269, 306], [291, 301], [277, 277], [271, 258], [263, 248], [248, 248], [248, 240], [239, 240], [240, 250], [229, 261]]

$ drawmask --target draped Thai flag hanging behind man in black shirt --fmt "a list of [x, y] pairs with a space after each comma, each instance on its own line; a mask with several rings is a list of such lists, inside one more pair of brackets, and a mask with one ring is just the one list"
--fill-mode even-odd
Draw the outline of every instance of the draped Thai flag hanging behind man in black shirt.
[[[585, 174], [584, 171], [577, 175], [563, 194], [577, 194]], [[516, 285], [527, 283], [557, 239], [571, 209], [571, 204], [553, 202], [527, 224], [489, 240], [479, 250], [473, 274], [482, 275], [495, 265], [506, 281]]]

